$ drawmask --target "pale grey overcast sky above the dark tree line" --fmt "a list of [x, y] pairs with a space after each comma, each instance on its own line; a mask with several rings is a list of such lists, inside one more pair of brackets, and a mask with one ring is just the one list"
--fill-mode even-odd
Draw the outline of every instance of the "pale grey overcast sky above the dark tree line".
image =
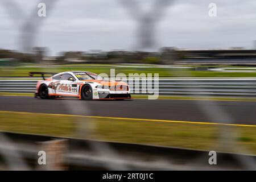
[[[22, 24], [35, 16], [40, 26], [34, 46], [60, 51], [101, 49], [132, 50], [138, 46], [138, 17], [156, 7], [150, 0], [137, 0], [131, 13], [122, 0], [59, 0], [47, 7], [46, 18], [38, 18], [36, 0], [0, 0], [0, 48], [20, 49]], [[159, 0], [158, 0], [159, 1]], [[15, 6], [10, 5], [14, 2]], [[209, 17], [209, 3], [216, 3], [217, 17]], [[8, 8], [7, 8], [8, 7]], [[206, 49], [253, 48], [256, 40], [255, 0], [176, 0], [161, 10], [156, 22], [155, 49], [163, 46]], [[49, 10], [49, 12], [48, 12]], [[38, 26], [38, 25], [36, 25]], [[154, 28], [154, 27], [152, 27]]]

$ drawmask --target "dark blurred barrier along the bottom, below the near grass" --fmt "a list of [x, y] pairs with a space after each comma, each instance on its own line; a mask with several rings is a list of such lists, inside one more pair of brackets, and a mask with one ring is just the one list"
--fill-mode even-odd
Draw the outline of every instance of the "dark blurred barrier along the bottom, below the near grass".
[[[59, 170], [56, 168], [62, 166], [65, 169], [108, 169], [106, 164], [112, 164], [116, 167], [125, 165], [128, 169], [133, 170], [179, 170], [179, 169], [249, 169], [241, 162], [250, 160], [255, 162], [256, 156], [232, 154], [218, 152], [218, 163], [221, 167], [210, 166], [208, 164], [208, 152], [204, 150], [191, 150], [185, 148], [150, 146], [145, 144], [134, 143], [116, 143], [116, 142], [101, 142], [96, 140], [82, 140], [75, 138], [60, 138], [46, 135], [19, 134], [10, 132], [1, 132], [8, 138], [12, 139], [15, 144], [18, 144], [18, 152], [30, 167], [42, 170]], [[64, 142], [64, 143], [60, 143]], [[22, 143], [22, 144], [20, 144]], [[56, 147], [59, 143], [61, 147]], [[92, 145], [108, 144], [119, 154], [122, 154], [122, 159], [112, 158], [108, 152], [104, 155], [98, 155], [92, 150]], [[64, 147], [65, 146], [65, 147]], [[65, 148], [65, 150], [63, 150]], [[56, 158], [56, 155], [61, 155], [63, 160], [51, 161], [51, 168], [36, 168], [38, 167], [38, 151], [39, 149], [51, 152], [51, 158]], [[1, 145], [0, 150], [15, 159], [12, 155], [11, 147]], [[1, 154], [0, 154], [1, 155]], [[137, 160], [130, 160], [131, 158]], [[197, 161], [197, 163], [193, 163]], [[0, 160], [0, 163], [2, 161]]]

